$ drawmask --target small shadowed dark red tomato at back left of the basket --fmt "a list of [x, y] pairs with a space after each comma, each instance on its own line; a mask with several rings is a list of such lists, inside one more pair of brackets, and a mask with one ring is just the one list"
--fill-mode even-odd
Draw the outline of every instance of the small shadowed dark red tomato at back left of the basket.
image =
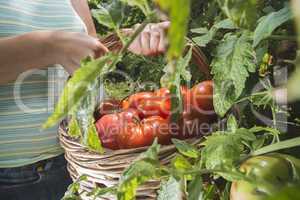
[[94, 118], [96, 121], [100, 119], [102, 116], [106, 114], [112, 114], [115, 112], [119, 112], [121, 109], [121, 102], [118, 100], [104, 100], [100, 103], [98, 108], [96, 109], [94, 113]]

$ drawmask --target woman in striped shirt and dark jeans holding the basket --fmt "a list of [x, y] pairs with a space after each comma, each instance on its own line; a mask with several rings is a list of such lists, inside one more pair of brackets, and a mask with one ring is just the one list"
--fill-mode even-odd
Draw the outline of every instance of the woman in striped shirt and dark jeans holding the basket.
[[[130, 50], [164, 51], [168, 23]], [[0, 199], [60, 199], [71, 183], [57, 129], [40, 127], [80, 60], [107, 52], [85, 0], [0, 0]], [[59, 64], [59, 65], [55, 65]]]

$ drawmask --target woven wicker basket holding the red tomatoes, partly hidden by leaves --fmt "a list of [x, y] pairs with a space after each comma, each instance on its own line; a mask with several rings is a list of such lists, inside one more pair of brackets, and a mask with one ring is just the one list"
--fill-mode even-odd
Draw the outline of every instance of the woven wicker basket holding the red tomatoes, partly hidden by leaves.
[[[106, 37], [102, 40], [111, 50], [120, 48], [120, 43], [114, 36]], [[209, 79], [209, 68], [206, 58], [201, 50], [193, 48], [193, 61], [199, 66], [199, 69]], [[85, 192], [92, 191], [96, 186], [110, 187], [116, 185], [125, 168], [127, 168], [138, 155], [144, 152], [147, 147], [127, 150], [109, 150], [105, 149], [103, 155], [89, 151], [82, 146], [80, 142], [68, 136], [68, 128], [65, 121], [59, 126], [59, 138], [61, 146], [65, 150], [65, 158], [68, 162], [68, 171], [73, 180], [77, 180], [81, 175], [86, 175], [88, 179], [81, 182], [82, 198], [88, 200]], [[198, 140], [187, 140], [189, 143], [196, 143]], [[159, 152], [159, 159], [162, 164], [168, 164], [175, 156], [176, 148], [174, 145], [163, 145]], [[156, 199], [156, 191], [160, 186], [157, 180], [148, 181], [138, 188], [137, 199]], [[98, 199], [111, 200], [113, 196], [106, 196]]]

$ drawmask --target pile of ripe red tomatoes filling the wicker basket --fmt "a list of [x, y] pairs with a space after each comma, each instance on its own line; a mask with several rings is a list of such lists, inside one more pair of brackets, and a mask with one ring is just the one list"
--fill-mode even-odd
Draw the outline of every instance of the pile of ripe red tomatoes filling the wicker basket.
[[[203, 133], [213, 112], [213, 83], [204, 81], [191, 89], [181, 87], [183, 113], [171, 122], [171, 93], [167, 88], [140, 92], [123, 101], [107, 100], [98, 108], [96, 127], [102, 144], [110, 149], [151, 145], [155, 138], [169, 144], [171, 138], [190, 138]], [[208, 127], [205, 127], [208, 129]]]

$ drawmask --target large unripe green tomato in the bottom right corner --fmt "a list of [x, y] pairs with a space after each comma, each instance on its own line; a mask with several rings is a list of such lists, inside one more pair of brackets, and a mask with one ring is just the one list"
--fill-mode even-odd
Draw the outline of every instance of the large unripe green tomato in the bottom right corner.
[[282, 187], [292, 184], [300, 174], [300, 160], [284, 154], [256, 156], [245, 161], [240, 170], [256, 184], [233, 182], [231, 200], [264, 200]]

